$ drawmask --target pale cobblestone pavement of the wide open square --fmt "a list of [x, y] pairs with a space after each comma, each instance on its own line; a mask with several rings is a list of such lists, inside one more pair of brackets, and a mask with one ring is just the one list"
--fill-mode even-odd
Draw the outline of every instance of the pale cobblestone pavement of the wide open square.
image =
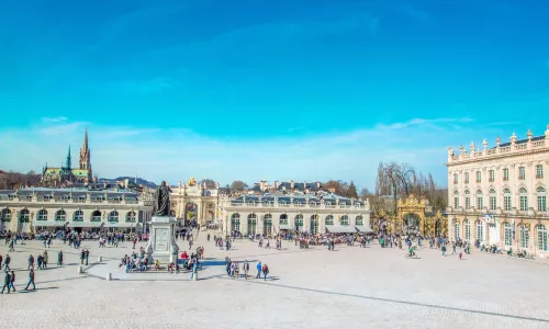
[[[225, 251], [203, 232], [199, 245], [208, 260], [192, 282], [188, 273], [123, 273], [117, 264], [130, 243], [99, 249], [85, 242], [90, 262], [99, 254], [103, 262], [78, 274], [78, 251], [55, 241], [49, 269], [36, 272], [35, 292], [23, 292], [26, 262], [44, 248], [18, 245], [11, 253], [18, 293], [0, 295], [0, 321], [5, 328], [549, 328], [544, 263], [481, 253], [460, 261], [428, 248], [408, 260], [404, 250], [377, 245], [327, 251], [284, 242], [277, 251], [237, 240]], [[55, 265], [59, 249], [63, 266]], [[3, 243], [0, 253], [7, 253]], [[260, 260], [272, 277], [231, 280], [225, 256], [254, 261], [254, 274]], [[113, 281], [104, 280], [108, 272]]]

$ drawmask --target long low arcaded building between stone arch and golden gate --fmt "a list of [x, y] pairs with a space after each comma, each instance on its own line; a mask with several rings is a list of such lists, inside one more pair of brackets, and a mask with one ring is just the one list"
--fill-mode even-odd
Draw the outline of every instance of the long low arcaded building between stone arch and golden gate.
[[368, 202], [333, 194], [242, 195], [220, 204], [223, 231], [273, 236], [280, 231], [370, 232]]

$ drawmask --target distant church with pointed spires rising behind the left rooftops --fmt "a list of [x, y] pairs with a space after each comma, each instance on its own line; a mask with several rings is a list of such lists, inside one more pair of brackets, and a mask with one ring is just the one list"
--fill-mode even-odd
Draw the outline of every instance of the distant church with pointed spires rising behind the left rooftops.
[[65, 164], [61, 167], [47, 167], [42, 169], [42, 184], [45, 186], [64, 186], [71, 184], [89, 184], [93, 182], [91, 169], [91, 151], [88, 147], [88, 129], [83, 136], [83, 144], [80, 148], [78, 168], [72, 168], [70, 146]]

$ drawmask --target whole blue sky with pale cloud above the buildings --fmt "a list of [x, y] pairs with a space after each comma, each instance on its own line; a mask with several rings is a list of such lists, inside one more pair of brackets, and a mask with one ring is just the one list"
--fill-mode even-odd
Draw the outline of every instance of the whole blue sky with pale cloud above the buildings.
[[[0, 1], [0, 168], [446, 184], [448, 146], [549, 124], [549, 3]], [[74, 157], [77, 157], [74, 152]]]

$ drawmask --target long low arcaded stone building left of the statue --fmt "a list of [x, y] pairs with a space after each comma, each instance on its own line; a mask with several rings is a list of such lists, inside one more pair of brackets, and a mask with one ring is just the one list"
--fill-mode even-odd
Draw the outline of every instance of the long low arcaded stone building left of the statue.
[[133, 191], [0, 191], [0, 230], [144, 231], [152, 211], [153, 200], [144, 200]]

